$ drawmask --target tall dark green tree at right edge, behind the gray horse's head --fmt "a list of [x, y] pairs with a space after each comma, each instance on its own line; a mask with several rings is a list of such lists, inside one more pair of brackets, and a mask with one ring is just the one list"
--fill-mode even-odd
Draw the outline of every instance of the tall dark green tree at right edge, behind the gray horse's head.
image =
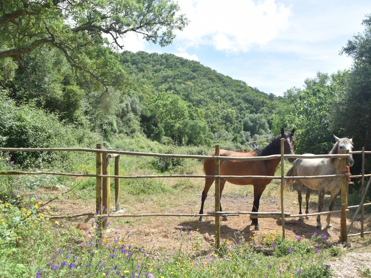
[[358, 33], [342, 48], [341, 53], [354, 59], [350, 72], [336, 75], [335, 102], [331, 105], [331, 126], [343, 136], [354, 138], [355, 149], [371, 147], [371, 14], [362, 21]]

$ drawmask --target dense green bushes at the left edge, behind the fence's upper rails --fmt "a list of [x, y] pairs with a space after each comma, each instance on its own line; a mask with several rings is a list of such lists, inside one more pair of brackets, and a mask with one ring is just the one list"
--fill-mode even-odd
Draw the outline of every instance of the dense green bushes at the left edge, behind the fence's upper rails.
[[[0, 91], [0, 136], [0, 145], [11, 148], [93, 146], [97, 140], [89, 130], [64, 125], [57, 115], [29, 105], [16, 106], [4, 91]], [[69, 158], [75, 160], [71, 153], [17, 152], [12, 160], [30, 166], [36, 162], [50, 163], [56, 159], [62, 162]]]

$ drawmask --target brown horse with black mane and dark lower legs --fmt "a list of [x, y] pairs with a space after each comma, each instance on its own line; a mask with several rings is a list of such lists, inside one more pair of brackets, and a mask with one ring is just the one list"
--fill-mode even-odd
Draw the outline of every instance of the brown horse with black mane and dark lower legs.
[[[295, 129], [291, 132], [285, 132], [281, 129], [281, 134], [274, 139], [272, 139], [265, 147], [253, 150], [252, 152], [242, 153], [242, 152], [233, 152], [230, 150], [220, 150], [220, 156], [232, 156], [232, 157], [251, 157], [251, 156], [268, 156], [268, 155], [278, 155], [280, 154], [280, 139], [285, 138], [285, 154], [294, 154], [294, 136]], [[210, 153], [209, 155], [215, 155], [215, 152]], [[291, 159], [289, 159], [290, 162]], [[277, 165], [280, 163], [280, 158], [270, 159], [270, 160], [223, 160], [220, 159], [220, 175], [223, 176], [273, 176]], [[204, 162], [205, 175], [215, 175], [215, 162], [211, 159], [206, 159]], [[203, 214], [204, 202], [207, 197], [207, 192], [210, 189], [210, 186], [214, 182], [214, 178], [205, 179], [205, 187], [201, 196], [201, 209], [200, 214]], [[236, 184], [236, 185], [253, 185], [254, 186], [254, 204], [253, 212], [257, 212], [259, 209], [259, 200], [260, 196], [269, 184], [272, 179], [254, 179], [254, 178], [243, 178], [243, 179], [233, 179], [233, 178], [221, 178], [220, 179], [220, 197], [221, 192], [223, 192], [224, 184], [227, 182]], [[220, 211], [221, 205], [220, 205]], [[228, 217], [223, 217], [224, 221], [228, 221]], [[200, 221], [204, 221], [204, 218], [201, 216]], [[252, 224], [255, 225], [255, 230], [261, 231], [257, 218], [252, 219]]]

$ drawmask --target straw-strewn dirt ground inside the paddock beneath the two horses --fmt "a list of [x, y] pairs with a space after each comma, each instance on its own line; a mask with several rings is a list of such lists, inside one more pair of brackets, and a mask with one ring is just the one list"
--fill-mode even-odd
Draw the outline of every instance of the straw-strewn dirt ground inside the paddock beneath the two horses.
[[[230, 185], [232, 186], [232, 185]], [[296, 192], [290, 192], [294, 197], [297, 196]], [[304, 194], [303, 194], [304, 195]], [[315, 195], [315, 194], [313, 194]], [[205, 202], [204, 213], [207, 211], [213, 211], [214, 198], [213, 194], [208, 195]], [[324, 210], [328, 207], [328, 197], [325, 198]], [[318, 198], [316, 195], [313, 199]], [[201, 195], [197, 194], [194, 200], [200, 200]], [[291, 200], [290, 200], [291, 199]], [[285, 201], [285, 212], [297, 214], [299, 205], [297, 201], [292, 201], [295, 198], [288, 198]], [[339, 201], [339, 200], [338, 200]], [[111, 201], [112, 202], [112, 201]], [[167, 213], [198, 213], [199, 203], [197, 201], [190, 202], [178, 202], [179, 205], [175, 207], [169, 207], [165, 209]], [[221, 198], [221, 203], [224, 211], [250, 211], [253, 203], [252, 195], [244, 195], [235, 193], [233, 191], [227, 192]], [[95, 204], [95, 203], [94, 203]], [[78, 214], [83, 212], [94, 211], [91, 203], [82, 202], [76, 199], [60, 199], [55, 202], [55, 212], [59, 215], [63, 214]], [[132, 205], [133, 206], [133, 205]], [[339, 204], [336, 206], [338, 207]], [[121, 206], [122, 211], [127, 211], [125, 205]], [[140, 208], [142, 213], [153, 213], [156, 212], [154, 209], [155, 205], [152, 206], [151, 202], [141, 203]], [[303, 208], [304, 211], [305, 208]], [[316, 203], [310, 202], [309, 212], [316, 212]], [[260, 200], [260, 212], [279, 212], [280, 202], [275, 196], [262, 196]], [[112, 212], [112, 209], [111, 209]], [[131, 212], [130, 212], [131, 213]], [[114, 212], [112, 212], [114, 214]], [[348, 217], [349, 218], [349, 217]], [[198, 222], [196, 217], [142, 217], [142, 218], [109, 218], [109, 228], [106, 235], [109, 238], [120, 236], [125, 238], [130, 234], [130, 239], [133, 244], [150, 246], [151, 248], [166, 248], [166, 249], [178, 249], [182, 244], [182, 248], [192, 249], [194, 248], [194, 240], [197, 238], [198, 249], [208, 249], [213, 244], [214, 237], [214, 218], [207, 217], [205, 222]], [[91, 219], [89, 218], [75, 218], [75, 219], [60, 219], [60, 223], [66, 226], [75, 226], [79, 228], [83, 233], [93, 231], [91, 226]], [[350, 224], [351, 219], [348, 219]], [[298, 218], [288, 218], [285, 220], [285, 233], [287, 238], [297, 238], [298, 236], [305, 236], [309, 239], [314, 232], [322, 232], [327, 236], [328, 242], [339, 241], [340, 235], [340, 215], [332, 215], [331, 223], [333, 229], [329, 230], [326, 227], [325, 216], [321, 217], [322, 231], [316, 228], [316, 216], [312, 216], [311, 219], [304, 220], [304, 223], [299, 223]], [[235, 232], [238, 231], [242, 234], [245, 239], [250, 237], [264, 235], [272, 231], [282, 231], [281, 219], [261, 218], [259, 219], [259, 225], [262, 231], [255, 231], [254, 226], [250, 225], [251, 220], [249, 215], [230, 216], [229, 221], [221, 221], [220, 236], [221, 240], [229, 239], [233, 242], [236, 239]], [[190, 234], [183, 236], [182, 240], [179, 239], [179, 230], [175, 229], [175, 226], [190, 226]], [[358, 232], [357, 226], [359, 221], [355, 222], [355, 229], [353, 232]], [[367, 223], [366, 225], [367, 226]], [[192, 229], [193, 228], [193, 229]], [[116, 233], [115, 233], [116, 232]], [[201, 235], [201, 236], [200, 236]]]

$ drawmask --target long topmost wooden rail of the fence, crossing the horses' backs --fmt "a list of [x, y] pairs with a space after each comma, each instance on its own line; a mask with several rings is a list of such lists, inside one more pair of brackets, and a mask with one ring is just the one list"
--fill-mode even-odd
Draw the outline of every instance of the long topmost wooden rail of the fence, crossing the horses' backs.
[[[167, 158], [196, 158], [196, 159], [220, 159], [220, 160], [270, 160], [278, 159], [280, 155], [269, 156], [250, 156], [250, 157], [230, 157], [230, 156], [210, 156], [210, 155], [175, 155], [166, 153], [145, 153], [145, 152], [126, 152], [122, 150], [101, 150], [87, 148], [0, 148], [0, 152], [94, 152], [94, 153], [111, 153], [119, 155], [136, 155], [136, 156], [155, 156]], [[346, 158], [349, 155], [284, 155], [285, 158]]]

